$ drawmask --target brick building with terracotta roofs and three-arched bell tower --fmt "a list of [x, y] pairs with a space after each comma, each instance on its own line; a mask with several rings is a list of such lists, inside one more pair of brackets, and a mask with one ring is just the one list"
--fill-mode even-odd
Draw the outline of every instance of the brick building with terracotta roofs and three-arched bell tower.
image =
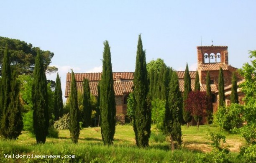
[[[206, 91], [206, 75], [209, 71], [211, 80], [212, 104], [214, 111], [218, 108], [218, 75], [222, 67], [225, 82], [226, 103], [229, 103], [232, 73], [237, 68], [228, 64], [228, 46], [197, 46], [197, 70], [200, 78], [201, 91]], [[97, 97], [97, 85], [101, 79], [102, 73], [80, 73], [75, 74], [77, 89], [82, 91], [82, 82], [84, 78], [89, 79], [91, 94]], [[191, 88], [195, 87], [196, 71], [189, 71], [191, 77]], [[184, 71], [177, 71], [179, 78], [179, 88], [184, 92]], [[127, 97], [133, 92], [133, 72], [113, 72], [114, 91], [116, 102], [116, 114], [118, 120], [124, 122], [124, 116], [127, 110]], [[241, 83], [241, 76], [237, 74], [238, 84]], [[239, 82], [240, 81], [240, 82]], [[67, 74], [65, 97], [69, 97], [71, 74]], [[243, 93], [238, 89], [239, 99]], [[204, 123], [203, 120], [202, 123]]]

